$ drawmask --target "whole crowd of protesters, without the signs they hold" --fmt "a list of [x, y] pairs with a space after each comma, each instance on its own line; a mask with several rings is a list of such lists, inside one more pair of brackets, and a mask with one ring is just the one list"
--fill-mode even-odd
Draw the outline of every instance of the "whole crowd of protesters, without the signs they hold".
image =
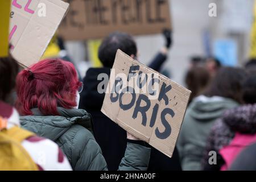
[[[168, 57], [172, 32], [164, 30], [163, 38], [148, 67], [170, 77], [163, 64], [178, 60]], [[63, 40], [58, 43], [65, 52]], [[134, 38], [113, 32], [98, 50], [103, 67], [86, 73], [77, 71], [67, 52], [26, 69], [11, 55], [1, 57], [0, 143], [11, 142], [0, 148], [0, 169], [256, 169], [256, 60], [234, 68], [215, 57], [191, 57], [185, 84], [192, 95], [168, 158], [101, 113], [105, 94], [97, 90], [98, 75], [110, 76], [118, 49], [138, 57]]]

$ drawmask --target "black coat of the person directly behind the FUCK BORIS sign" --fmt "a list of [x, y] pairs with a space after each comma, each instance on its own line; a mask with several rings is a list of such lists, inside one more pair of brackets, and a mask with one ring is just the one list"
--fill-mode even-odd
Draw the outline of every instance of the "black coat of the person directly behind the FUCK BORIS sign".
[[[162, 60], [158, 61], [157, 59], [166, 59], [166, 57], [160, 54], [156, 56], [156, 60], [151, 63], [151, 68], [160, 68], [159, 64], [164, 62]], [[90, 68], [87, 71], [83, 80], [84, 90], [81, 93], [79, 108], [85, 109], [92, 114], [94, 137], [101, 147], [102, 154], [108, 164], [108, 169], [115, 171], [118, 169], [119, 163], [125, 154], [127, 136], [125, 130], [101, 113], [105, 94], [100, 94], [97, 91], [98, 84], [101, 82], [101, 80], [97, 80], [100, 73], [106, 73], [109, 76], [110, 68]], [[168, 158], [153, 147], [151, 148], [148, 171], [181, 170], [179, 154], [176, 147], [172, 158]]]

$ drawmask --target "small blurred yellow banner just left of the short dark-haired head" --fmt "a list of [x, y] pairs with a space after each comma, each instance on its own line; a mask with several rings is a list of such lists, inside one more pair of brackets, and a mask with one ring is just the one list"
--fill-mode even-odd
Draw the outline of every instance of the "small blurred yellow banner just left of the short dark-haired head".
[[89, 40], [88, 49], [90, 53], [90, 60], [94, 68], [102, 67], [101, 61], [98, 59], [98, 48], [101, 46], [101, 40]]

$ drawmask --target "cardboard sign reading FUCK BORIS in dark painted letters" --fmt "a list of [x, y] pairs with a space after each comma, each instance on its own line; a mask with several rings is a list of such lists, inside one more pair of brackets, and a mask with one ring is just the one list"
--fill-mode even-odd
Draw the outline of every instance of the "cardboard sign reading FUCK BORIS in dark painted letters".
[[190, 94], [188, 89], [118, 50], [101, 111], [171, 157]]

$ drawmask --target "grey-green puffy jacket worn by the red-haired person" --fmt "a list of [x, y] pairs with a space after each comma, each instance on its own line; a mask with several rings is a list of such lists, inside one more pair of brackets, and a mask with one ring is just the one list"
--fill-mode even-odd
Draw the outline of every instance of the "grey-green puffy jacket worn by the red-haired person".
[[[81, 109], [57, 108], [59, 116], [45, 116], [39, 109], [33, 115], [20, 117], [24, 129], [56, 142], [74, 170], [108, 170], [101, 148], [92, 134], [90, 114]], [[128, 143], [119, 170], [146, 170], [150, 148]]]

